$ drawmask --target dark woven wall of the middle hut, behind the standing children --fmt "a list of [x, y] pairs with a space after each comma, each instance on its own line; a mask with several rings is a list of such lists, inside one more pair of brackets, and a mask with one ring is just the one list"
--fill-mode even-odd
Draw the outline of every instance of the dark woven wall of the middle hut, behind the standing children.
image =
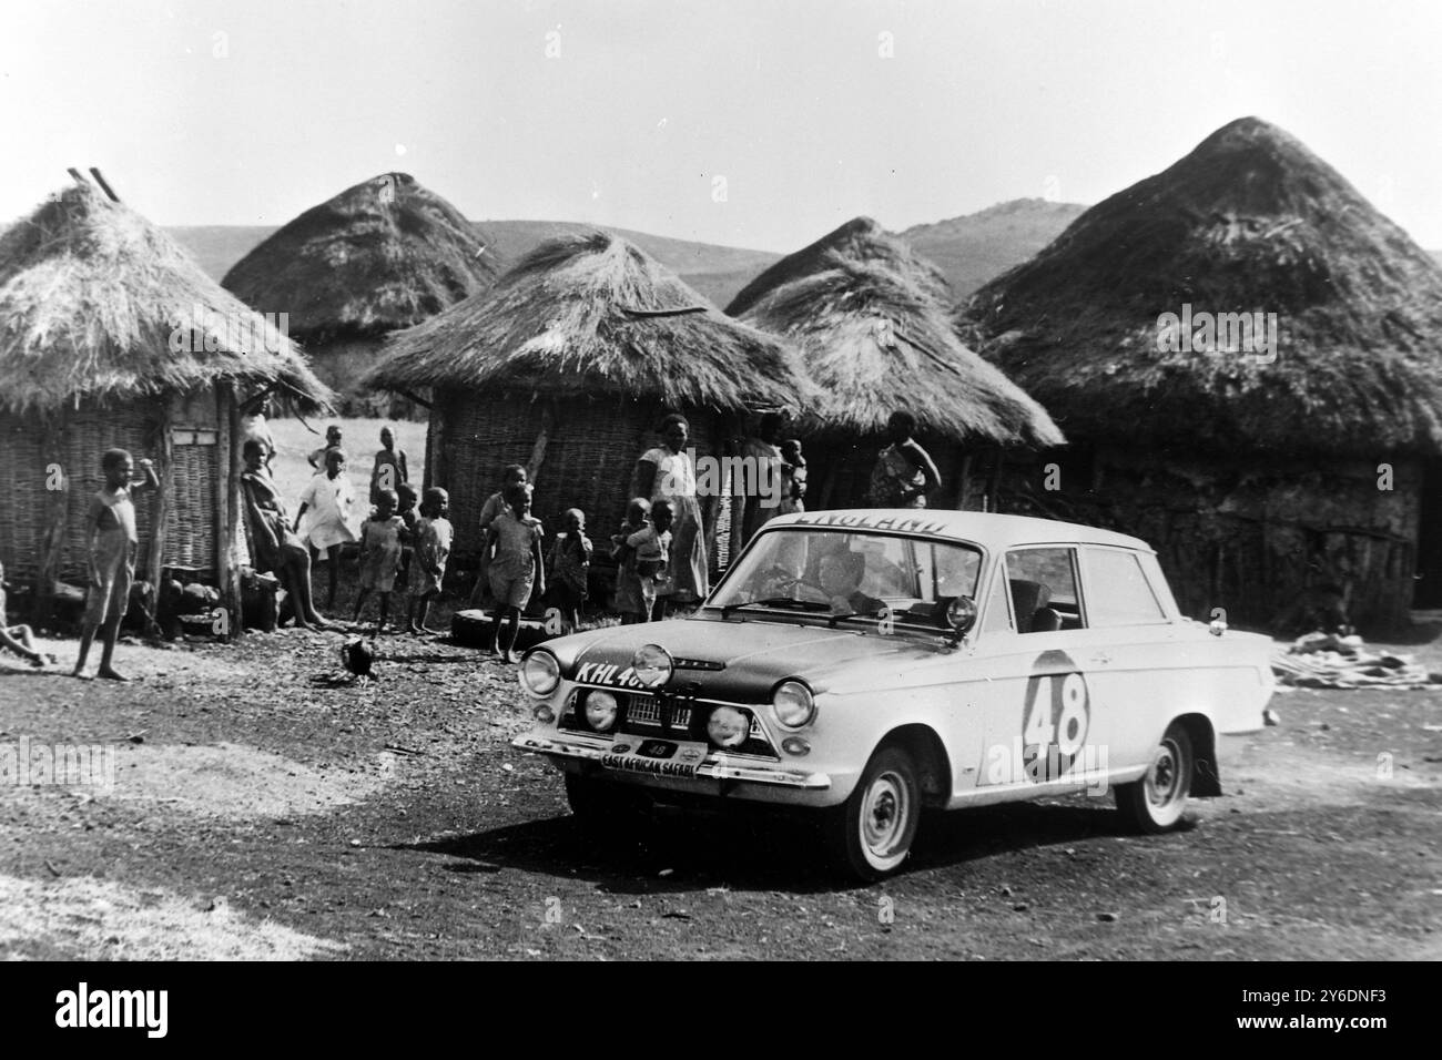
[[[585, 512], [587, 531], [610, 536], [626, 518], [636, 459], [656, 444], [655, 427], [665, 410], [653, 399], [620, 395], [551, 398], [544, 395], [463, 392], [438, 395], [431, 414], [430, 474], [451, 496], [456, 549], [480, 548], [476, 518], [500, 486], [506, 464], [529, 464], [545, 428], [545, 450], [534, 479], [532, 511], [547, 534], [561, 529], [567, 508]], [[691, 421], [698, 456], [717, 456], [725, 438], [724, 417], [682, 410]], [[720, 511], [727, 506], [718, 505]], [[720, 532], [730, 525], [722, 516]], [[722, 542], [724, 545], [724, 542]], [[598, 549], [600, 551], [600, 549]], [[721, 549], [724, 555], [724, 548]]]

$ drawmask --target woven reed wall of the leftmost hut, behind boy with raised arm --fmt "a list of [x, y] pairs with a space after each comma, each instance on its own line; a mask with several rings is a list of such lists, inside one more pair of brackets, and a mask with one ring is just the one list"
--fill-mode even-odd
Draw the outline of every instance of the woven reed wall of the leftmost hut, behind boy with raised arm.
[[[68, 479], [65, 498], [65, 541], [59, 562], [63, 581], [84, 584], [87, 531], [85, 515], [91, 495], [104, 483], [99, 457], [107, 449], [127, 449], [138, 460], [160, 454], [163, 401], [128, 402], [98, 407], [89, 402], [68, 408], [46, 420], [39, 415], [0, 414], [0, 560], [7, 575], [19, 581], [35, 577], [48, 524], [50, 495], [56, 482], [49, 469], [59, 467]], [[216, 402], [213, 392], [202, 391], [187, 399], [174, 399], [173, 414], [192, 428], [213, 430]], [[221, 447], [215, 444], [176, 444], [172, 451], [174, 495], [166, 532], [164, 564], [215, 575], [215, 489]], [[147, 552], [154, 522], [156, 498], [136, 495], [136, 526], [140, 535], [137, 575], [149, 577]]]

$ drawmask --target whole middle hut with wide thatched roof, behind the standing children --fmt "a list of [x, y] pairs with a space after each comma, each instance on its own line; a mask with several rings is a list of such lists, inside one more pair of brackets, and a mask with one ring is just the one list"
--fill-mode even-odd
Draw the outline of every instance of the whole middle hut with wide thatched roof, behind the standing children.
[[637, 456], [665, 410], [720, 454], [733, 417], [806, 394], [782, 340], [731, 320], [624, 239], [542, 244], [496, 286], [391, 336], [365, 381], [434, 395], [427, 476], [451, 490], [457, 548], [506, 464], [528, 464], [535, 511], [587, 512], [610, 534]]

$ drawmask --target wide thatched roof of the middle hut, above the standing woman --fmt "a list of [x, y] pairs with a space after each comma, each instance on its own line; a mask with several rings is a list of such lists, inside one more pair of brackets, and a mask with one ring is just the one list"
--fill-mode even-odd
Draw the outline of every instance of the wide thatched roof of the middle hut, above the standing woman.
[[492, 290], [391, 336], [385, 355], [362, 385], [620, 392], [733, 410], [806, 398], [789, 346], [606, 232], [542, 244]]

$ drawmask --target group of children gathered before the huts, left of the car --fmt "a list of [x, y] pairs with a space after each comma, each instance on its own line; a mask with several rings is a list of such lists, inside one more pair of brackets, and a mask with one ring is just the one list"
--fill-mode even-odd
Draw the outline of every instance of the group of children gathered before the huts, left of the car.
[[[441, 593], [454, 529], [450, 522], [450, 495], [427, 489], [417, 505], [415, 489], [405, 482], [405, 454], [395, 450], [389, 428], [382, 428], [382, 449], [371, 476], [372, 509], [368, 518], [353, 522], [355, 490], [346, 474], [346, 451], [340, 447], [339, 425], [326, 431], [326, 444], [309, 454], [316, 474], [300, 495], [300, 508], [291, 522], [270, 479], [274, 446], [268, 438], [249, 437], [244, 446], [245, 470], [241, 480], [248, 502], [248, 526], [252, 561], [271, 570], [287, 588], [290, 613], [297, 626], [327, 629], [310, 601], [310, 564], [322, 554], [327, 558], [327, 609], [335, 607], [340, 552], [348, 544], [360, 551], [359, 593], [353, 622], [359, 622], [373, 594], [379, 614], [376, 632], [385, 629], [391, 594], [410, 586], [411, 568], [418, 568], [420, 583], [410, 596], [405, 630], [434, 633], [425, 626], [431, 604]], [[795, 441], [782, 447], [786, 498], [782, 511], [796, 511], [805, 492], [805, 457]], [[124, 450], [110, 450], [101, 460], [104, 487], [94, 495], [87, 515], [89, 531], [89, 591], [82, 623], [79, 659], [75, 673], [84, 673], [89, 648], [102, 635], [99, 675], [124, 681], [112, 666], [112, 653], [134, 575], [138, 541], [131, 493], [159, 486], [149, 460], [141, 460], [143, 477], [134, 480], [136, 461]], [[792, 496], [796, 495], [796, 496]], [[588, 597], [588, 575], [594, 545], [585, 534], [585, 512], [567, 509], [564, 529], [557, 534], [549, 552], [544, 552], [541, 521], [531, 513], [532, 486], [526, 469], [510, 464], [503, 472], [502, 487], [482, 508], [483, 532], [480, 573], [472, 606], [493, 603], [490, 649], [512, 661], [521, 613], [534, 594], [545, 597], [555, 609], [561, 630], [580, 627]], [[790, 502], [790, 503], [787, 503]], [[676, 513], [669, 500], [634, 498], [626, 509], [626, 522], [610, 536], [609, 555], [616, 565], [614, 610], [624, 624], [649, 622], [656, 616], [658, 600], [669, 591], [671, 529]], [[547, 596], [549, 588], [549, 596]], [[0, 633], [4, 630], [0, 622]], [[6, 636], [22, 645], [27, 658], [35, 653], [25, 639]], [[0, 640], [10, 648], [10, 643]]]

